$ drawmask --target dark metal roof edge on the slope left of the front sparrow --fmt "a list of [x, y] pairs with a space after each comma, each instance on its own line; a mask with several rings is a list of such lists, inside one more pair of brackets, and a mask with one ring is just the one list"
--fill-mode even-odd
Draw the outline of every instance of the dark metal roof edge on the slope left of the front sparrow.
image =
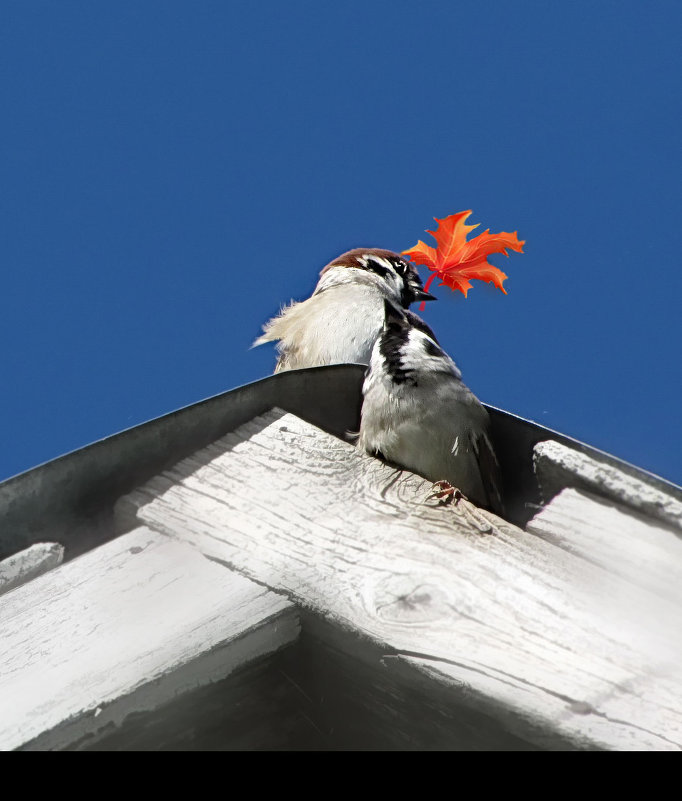
[[49, 536], [74, 555], [104, 542], [113, 503], [273, 406], [336, 436], [360, 418], [364, 365], [268, 376], [59, 456], [0, 484], [0, 559]]

